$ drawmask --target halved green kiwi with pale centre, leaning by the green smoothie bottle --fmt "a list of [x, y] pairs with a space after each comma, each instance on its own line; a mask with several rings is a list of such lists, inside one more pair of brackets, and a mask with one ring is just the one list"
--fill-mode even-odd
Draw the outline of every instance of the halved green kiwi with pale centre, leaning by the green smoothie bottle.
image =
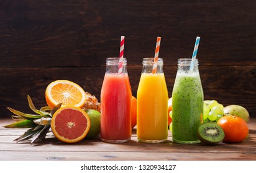
[[198, 127], [198, 138], [203, 143], [214, 145], [222, 141], [224, 137], [222, 127], [216, 122], [204, 122]]

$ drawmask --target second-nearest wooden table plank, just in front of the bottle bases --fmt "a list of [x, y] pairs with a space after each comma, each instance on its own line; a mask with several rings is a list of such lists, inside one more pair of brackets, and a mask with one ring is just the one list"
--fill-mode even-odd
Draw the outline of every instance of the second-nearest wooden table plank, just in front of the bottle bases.
[[85, 152], [204, 152], [209, 151], [215, 153], [254, 153], [256, 156], [256, 146], [255, 146], [255, 138], [248, 139], [242, 143], [219, 143], [218, 145], [209, 146], [204, 144], [198, 145], [181, 145], [178, 143], [173, 143], [173, 141], [168, 140], [165, 143], [160, 144], [147, 144], [147, 143], [139, 143], [137, 139], [132, 139], [128, 143], [122, 144], [111, 144], [104, 143], [100, 140], [92, 141], [92, 140], [83, 140], [80, 143], [67, 145], [58, 141], [56, 138], [47, 139], [43, 141], [43, 143], [39, 143], [38, 145], [30, 145], [30, 143], [0, 143], [0, 151], [69, 151], [69, 152], [77, 152], [77, 151], [85, 151]]

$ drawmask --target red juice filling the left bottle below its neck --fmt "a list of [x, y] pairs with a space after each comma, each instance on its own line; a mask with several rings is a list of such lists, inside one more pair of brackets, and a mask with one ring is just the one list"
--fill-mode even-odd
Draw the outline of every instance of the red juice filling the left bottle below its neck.
[[128, 74], [105, 74], [101, 88], [101, 140], [129, 141], [132, 91]]

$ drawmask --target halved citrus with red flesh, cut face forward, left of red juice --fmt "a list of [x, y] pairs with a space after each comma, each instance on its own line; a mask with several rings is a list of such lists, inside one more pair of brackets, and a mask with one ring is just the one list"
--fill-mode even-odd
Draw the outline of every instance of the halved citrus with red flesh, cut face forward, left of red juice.
[[53, 114], [51, 127], [58, 140], [76, 143], [86, 137], [91, 127], [91, 120], [83, 109], [65, 106]]

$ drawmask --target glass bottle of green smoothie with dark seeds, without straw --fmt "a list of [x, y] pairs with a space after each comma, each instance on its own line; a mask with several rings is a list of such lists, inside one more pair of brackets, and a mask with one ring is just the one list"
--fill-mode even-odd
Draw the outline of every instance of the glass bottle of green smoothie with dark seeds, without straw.
[[203, 122], [204, 95], [198, 59], [190, 69], [191, 58], [178, 59], [172, 93], [172, 138], [176, 143], [199, 143], [198, 126]]

